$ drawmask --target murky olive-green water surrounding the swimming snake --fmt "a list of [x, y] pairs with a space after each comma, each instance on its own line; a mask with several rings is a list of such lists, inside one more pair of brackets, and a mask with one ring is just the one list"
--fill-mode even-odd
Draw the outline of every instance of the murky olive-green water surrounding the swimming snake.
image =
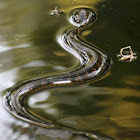
[[[55, 6], [64, 12], [50, 16]], [[71, 27], [69, 12], [89, 7], [96, 23], [82, 38], [105, 50], [113, 60], [106, 77], [80, 87], [59, 88], [32, 95], [27, 108], [68, 128], [96, 131], [117, 140], [140, 139], [140, 2], [138, 0], [1, 0], [0, 1], [0, 137], [2, 140], [87, 140], [62, 129], [33, 126], [11, 116], [3, 107], [5, 90], [18, 81], [63, 73], [79, 61], [57, 43]], [[138, 58], [122, 63], [116, 57], [131, 45]]]

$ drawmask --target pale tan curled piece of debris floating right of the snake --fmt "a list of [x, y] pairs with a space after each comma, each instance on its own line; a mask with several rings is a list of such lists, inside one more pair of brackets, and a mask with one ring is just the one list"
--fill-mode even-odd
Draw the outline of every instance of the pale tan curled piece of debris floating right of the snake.
[[131, 62], [137, 59], [137, 53], [132, 51], [131, 46], [121, 48], [120, 53], [117, 54], [119, 61]]

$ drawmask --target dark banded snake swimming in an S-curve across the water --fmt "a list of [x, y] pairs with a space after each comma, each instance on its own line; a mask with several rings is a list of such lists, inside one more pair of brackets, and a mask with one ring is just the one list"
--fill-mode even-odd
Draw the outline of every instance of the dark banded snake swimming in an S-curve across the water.
[[[4, 96], [4, 106], [12, 115], [46, 128], [61, 127], [36, 116], [28, 111], [24, 105], [27, 98], [34, 93], [50, 88], [68, 87], [95, 81], [109, 71], [112, 62], [108, 54], [102, 49], [87, 43], [81, 37], [82, 31], [92, 26], [96, 21], [96, 17], [91, 8], [75, 8], [70, 12], [69, 22], [75, 27], [68, 28], [62, 33], [60, 37], [61, 46], [79, 59], [79, 66], [64, 74], [35, 78], [15, 84]], [[62, 128], [65, 129], [65, 127]], [[93, 134], [85, 131], [76, 132], [86, 134], [89, 137], [93, 136]]]

